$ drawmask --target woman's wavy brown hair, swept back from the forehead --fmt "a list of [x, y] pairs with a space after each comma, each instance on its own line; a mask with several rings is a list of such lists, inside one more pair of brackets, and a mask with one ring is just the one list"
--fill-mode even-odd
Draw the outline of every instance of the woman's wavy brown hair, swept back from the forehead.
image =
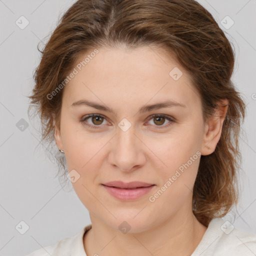
[[[44, 48], [38, 49], [41, 60], [29, 98], [30, 106], [36, 106], [40, 115], [42, 140], [54, 141], [63, 89], [50, 99], [47, 95], [65, 80], [81, 54], [118, 45], [129, 49], [155, 45], [174, 54], [200, 94], [204, 121], [214, 114], [218, 100], [229, 101], [221, 137], [213, 153], [201, 155], [193, 187], [193, 213], [208, 226], [211, 219], [224, 216], [238, 201], [238, 136], [245, 104], [230, 80], [234, 66], [230, 42], [212, 15], [196, 1], [76, 1], [63, 14]], [[59, 154], [55, 157], [60, 171], [66, 167]]]

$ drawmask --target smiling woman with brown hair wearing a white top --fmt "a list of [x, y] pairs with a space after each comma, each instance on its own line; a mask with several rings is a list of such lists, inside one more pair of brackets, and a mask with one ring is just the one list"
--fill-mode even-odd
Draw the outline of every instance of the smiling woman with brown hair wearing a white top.
[[31, 106], [91, 224], [30, 256], [256, 253], [221, 219], [238, 200], [245, 104], [205, 8], [78, 0], [41, 52]]

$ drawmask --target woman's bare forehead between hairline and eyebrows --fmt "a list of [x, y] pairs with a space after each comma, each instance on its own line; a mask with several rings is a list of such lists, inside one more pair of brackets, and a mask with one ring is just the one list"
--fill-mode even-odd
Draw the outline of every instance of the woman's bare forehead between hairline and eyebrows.
[[74, 68], [63, 95], [70, 104], [83, 98], [111, 105], [172, 99], [189, 106], [199, 100], [184, 68], [156, 48], [99, 48], [81, 55]]

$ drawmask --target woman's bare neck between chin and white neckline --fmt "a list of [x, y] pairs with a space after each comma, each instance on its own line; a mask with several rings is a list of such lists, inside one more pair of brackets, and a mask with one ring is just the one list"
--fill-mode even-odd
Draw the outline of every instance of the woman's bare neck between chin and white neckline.
[[87, 256], [189, 256], [207, 229], [195, 218], [192, 211], [185, 215], [175, 214], [160, 225], [138, 233], [122, 233], [96, 216], [90, 217], [92, 228], [83, 237]]

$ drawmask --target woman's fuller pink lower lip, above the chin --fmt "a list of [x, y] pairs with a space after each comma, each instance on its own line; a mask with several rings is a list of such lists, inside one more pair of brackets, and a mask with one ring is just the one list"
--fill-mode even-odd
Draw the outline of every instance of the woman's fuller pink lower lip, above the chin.
[[109, 194], [123, 201], [135, 200], [140, 196], [147, 194], [152, 189], [153, 186], [154, 185], [147, 186], [147, 187], [125, 189], [125, 188], [117, 188], [117, 187], [103, 185], [103, 187], [107, 190]]

